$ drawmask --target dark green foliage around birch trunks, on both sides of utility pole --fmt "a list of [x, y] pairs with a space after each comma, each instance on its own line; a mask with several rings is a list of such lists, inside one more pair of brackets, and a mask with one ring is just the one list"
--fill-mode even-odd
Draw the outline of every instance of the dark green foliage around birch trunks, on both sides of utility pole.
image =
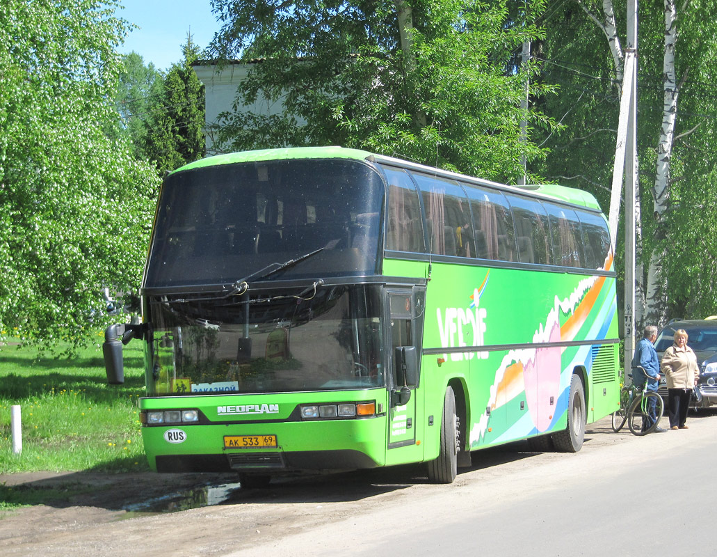
[[[541, 111], [564, 124], [561, 134], [545, 134], [551, 154], [533, 165], [533, 172], [597, 195], [609, 206], [620, 83], [605, 34], [587, 16], [598, 18], [599, 0], [567, 2], [546, 9], [544, 41], [533, 45], [541, 78], [556, 83], [560, 95], [537, 99]], [[663, 131], [665, 5], [640, 1], [638, 40], [637, 150], [642, 208], [642, 284], [647, 283], [652, 253], [664, 251], [662, 277], [667, 306], [663, 315], [649, 316], [660, 324], [671, 317], [701, 318], [717, 312], [717, 23], [705, 14], [715, 0], [678, 3], [675, 70], [678, 81], [677, 129], [670, 156], [668, 211], [655, 219], [655, 164]], [[614, 1], [619, 37], [625, 47], [625, 1]], [[621, 211], [622, 217], [622, 211]], [[621, 218], [622, 223], [622, 218]], [[617, 235], [616, 261], [622, 268], [622, 230]], [[620, 291], [620, 289], [619, 289]], [[638, 293], [640, 294], [640, 293]], [[643, 292], [644, 296], [645, 293]]]

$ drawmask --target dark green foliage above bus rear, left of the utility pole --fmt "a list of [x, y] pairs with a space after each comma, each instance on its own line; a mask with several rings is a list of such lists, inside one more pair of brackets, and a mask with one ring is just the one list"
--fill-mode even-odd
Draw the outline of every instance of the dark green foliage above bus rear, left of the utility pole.
[[552, 182], [592, 192], [607, 213], [620, 84], [614, 81], [616, 69], [602, 30], [576, 2], [557, 7], [546, 11], [546, 37], [532, 45], [531, 54], [541, 68], [539, 79], [559, 85], [560, 93], [532, 101], [564, 128], [543, 137], [536, 133], [550, 155], [533, 170]]

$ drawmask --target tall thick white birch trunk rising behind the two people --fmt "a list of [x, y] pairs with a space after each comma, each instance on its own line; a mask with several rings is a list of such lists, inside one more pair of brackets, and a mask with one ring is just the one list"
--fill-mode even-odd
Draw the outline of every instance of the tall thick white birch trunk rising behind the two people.
[[[655, 169], [655, 187], [652, 189], [654, 215], [657, 220], [655, 229], [655, 250], [650, 256], [647, 270], [647, 296], [645, 299], [645, 317], [658, 327], [668, 320], [667, 278], [663, 271], [663, 261], [668, 240], [665, 212], [670, 202], [670, 157], [672, 156], [677, 121], [677, 103], [679, 85], [675, 75], [675, 42], [677, 40], [677, 11], [675, 0], [665, 0], [665, 54], [663, 57], [663, 126], [660, 142], [657, 144], [657, 168]], [[679, 316], [678, 316], [679, 317]]]

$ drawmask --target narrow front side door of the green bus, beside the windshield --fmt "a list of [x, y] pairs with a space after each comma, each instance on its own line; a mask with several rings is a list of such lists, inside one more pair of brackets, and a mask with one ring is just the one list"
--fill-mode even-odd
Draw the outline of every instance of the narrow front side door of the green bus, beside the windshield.
[[[419, 389], [421, 323], [424, 289], [389, 291], [391, 324], [391, 397], [389, 401], [389, 443], [386, 464], [422, 459], [417, 420], [423, 412]], [[397, 348], [399, 350], [397, 350]], [[413, 374], [411, 369], [413, 368]], [[408, 373], [407, 373], [408, 370]], [[404, 449], [400, 449], [405, 447]], [[400, 449], [400, 450], [399, 450]]]

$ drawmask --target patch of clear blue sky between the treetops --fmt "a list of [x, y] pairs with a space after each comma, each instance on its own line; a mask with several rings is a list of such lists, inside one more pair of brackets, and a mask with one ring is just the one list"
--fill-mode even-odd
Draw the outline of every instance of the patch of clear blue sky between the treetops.
[[137, 52], [144, 63], [166, 70], [181, 60], [187, 32], [204, 49], [219, 31], [209, 0], [120, 0], [115, 15], [136, 24], [120, 52]]

